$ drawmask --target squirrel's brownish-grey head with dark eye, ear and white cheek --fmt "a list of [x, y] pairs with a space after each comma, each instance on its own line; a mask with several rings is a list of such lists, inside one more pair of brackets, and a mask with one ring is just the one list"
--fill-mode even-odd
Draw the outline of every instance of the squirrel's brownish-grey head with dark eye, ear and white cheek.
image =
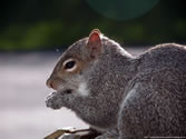
[[56, 64], [47, 86], [63, 93], [87, 95], [84, 72], [91, 67], [102, 52], [102, 34], [98, 29], [70, 46]]

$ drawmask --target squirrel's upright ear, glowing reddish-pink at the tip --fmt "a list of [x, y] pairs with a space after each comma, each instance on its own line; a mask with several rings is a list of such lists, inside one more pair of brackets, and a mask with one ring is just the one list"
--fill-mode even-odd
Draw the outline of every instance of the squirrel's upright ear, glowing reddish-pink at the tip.
[[101, 51], [101, 39], [100, 39], [100, 31], [98, 29], [94, 29], [88, 39], [87, 48], [90, 51], [90, 57], [96, 58]]

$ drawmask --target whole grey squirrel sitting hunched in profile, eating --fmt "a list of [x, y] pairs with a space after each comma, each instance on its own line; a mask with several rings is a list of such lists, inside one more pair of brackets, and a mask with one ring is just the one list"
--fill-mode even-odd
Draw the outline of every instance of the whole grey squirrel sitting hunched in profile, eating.
[[186, 46], [158, 44], [138, 57], [98, 29], [71, 44], [47, 86], [47, 107], [66, 107], [96, 139], [186, 137]]

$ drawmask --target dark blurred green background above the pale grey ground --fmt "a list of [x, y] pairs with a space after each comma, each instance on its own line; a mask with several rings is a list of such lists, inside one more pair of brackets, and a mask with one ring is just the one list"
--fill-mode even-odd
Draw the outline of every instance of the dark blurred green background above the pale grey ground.
[[53, 50], [94, 28], [121, 44], [186, 42], [183, 0], [6, 0], [0, 50]]

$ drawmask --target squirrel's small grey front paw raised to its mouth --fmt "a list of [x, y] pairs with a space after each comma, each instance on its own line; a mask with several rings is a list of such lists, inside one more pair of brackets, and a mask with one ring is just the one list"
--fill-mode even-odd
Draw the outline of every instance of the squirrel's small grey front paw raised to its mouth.
[[57, 92], [52, 92], [46, 98], [46, 106], [51, 109], [60, 109], [60, 100], [59, 96], [56, 95]]

